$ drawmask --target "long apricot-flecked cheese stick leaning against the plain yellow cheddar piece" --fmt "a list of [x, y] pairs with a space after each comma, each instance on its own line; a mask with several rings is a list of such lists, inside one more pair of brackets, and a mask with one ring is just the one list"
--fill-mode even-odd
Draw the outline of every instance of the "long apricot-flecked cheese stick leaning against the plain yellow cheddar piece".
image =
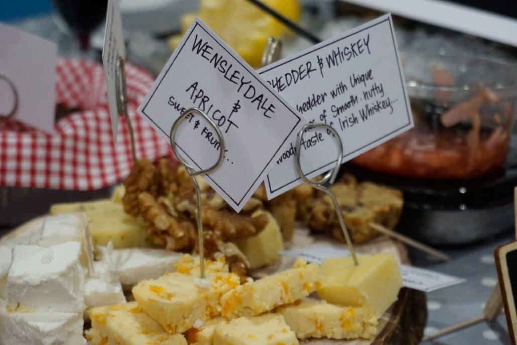
[[298, 259], [291, 269], [255, 280], [221, 297], [224, 317], [255, 316], [316, 291], [320, 266]]

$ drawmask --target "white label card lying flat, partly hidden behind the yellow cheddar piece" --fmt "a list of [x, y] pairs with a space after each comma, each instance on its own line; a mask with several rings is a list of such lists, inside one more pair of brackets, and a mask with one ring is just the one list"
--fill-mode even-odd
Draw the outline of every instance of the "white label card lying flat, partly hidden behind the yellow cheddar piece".
[[[300, 249], [285, 250], [282, 252], [282, 255], [292, 258], [300, 257], [308, 262], [321, 264], [324, 260], [329, 258], [349, 256], [350, 252], [347, 249], [341, 249], [326, 244], [316, 244]], [[404, 287], [423, 292], [447, 288], [465, 281], [463, 278], [403, 264], [400, 265], [400, 273]]]

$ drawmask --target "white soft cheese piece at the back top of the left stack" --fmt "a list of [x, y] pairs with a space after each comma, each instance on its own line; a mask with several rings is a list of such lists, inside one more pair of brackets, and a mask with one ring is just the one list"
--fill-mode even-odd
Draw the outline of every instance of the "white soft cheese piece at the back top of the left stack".
[[47, 217], [43, 223], [39, 245], [49, 247], [65, 242], [81, 242], [81, 262], [90, 273], [93, 273], [94, 244], [88, 222], [88, 217], [83, 212]]

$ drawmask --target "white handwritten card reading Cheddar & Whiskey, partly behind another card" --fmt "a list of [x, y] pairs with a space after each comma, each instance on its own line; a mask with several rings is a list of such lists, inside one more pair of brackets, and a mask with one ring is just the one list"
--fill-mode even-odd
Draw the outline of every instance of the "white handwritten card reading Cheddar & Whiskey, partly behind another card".
[[[389, 14], [258, 72], [310, 122], [340, 133], [343, 161], [413, 127]], [[325, 132], [305, 133], [303, 171], [312, 177], [329, 170], [335, 145]], [[267, 175], [269, 198], [301, 183], [295, 150], [293, 142]]]

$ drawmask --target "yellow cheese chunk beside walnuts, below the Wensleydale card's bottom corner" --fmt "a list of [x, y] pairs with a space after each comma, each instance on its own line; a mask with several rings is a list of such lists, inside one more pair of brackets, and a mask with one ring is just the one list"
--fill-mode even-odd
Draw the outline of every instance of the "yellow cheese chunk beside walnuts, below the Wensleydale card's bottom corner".
[[253, 213], [253, 217], [263, 213], [266, 213], [269, 219], [264, 230], [255, 236], [235, 241], [237, 247], [248, 259], [251, 269], [274, 263], [278, 260], [279, 253], [284, 250], [282, 233], [276, 219], [269, 212], [262, 210]]

